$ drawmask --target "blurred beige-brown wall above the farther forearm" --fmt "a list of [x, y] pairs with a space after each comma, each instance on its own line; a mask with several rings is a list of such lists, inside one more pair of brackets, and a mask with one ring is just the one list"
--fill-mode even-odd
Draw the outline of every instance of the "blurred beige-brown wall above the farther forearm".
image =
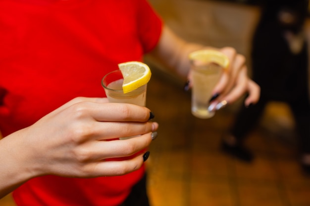
[[259, 16], [257, 7], [215, 0], [149, 1], [183, 39], [215, 47], [232, 46], [249, 59], [250, 41]]

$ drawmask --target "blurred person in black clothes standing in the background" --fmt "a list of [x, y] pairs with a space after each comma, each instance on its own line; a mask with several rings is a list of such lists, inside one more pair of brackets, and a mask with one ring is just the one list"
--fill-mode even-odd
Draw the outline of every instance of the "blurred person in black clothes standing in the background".
[[239, 160], [252, 162], [244, 146], [269, 101], [286, 102], [293, 113], [300, 137], [301, 165], [310, 174], [309, 51], [305, 26], [308, 0], [257, 0], [261, 16], [252, 42], [253, 80], [261, 88], [257, 104], [243, 106], [222, 150]]

